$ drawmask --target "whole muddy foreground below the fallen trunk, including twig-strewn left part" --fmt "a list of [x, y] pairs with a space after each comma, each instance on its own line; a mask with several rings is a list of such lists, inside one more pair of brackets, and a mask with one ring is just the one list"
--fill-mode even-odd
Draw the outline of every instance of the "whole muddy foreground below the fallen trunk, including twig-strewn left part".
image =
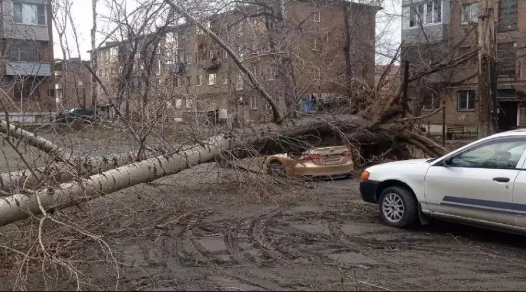
[[[81, 282], [54, 269], [53, 260], [19, 269], [20, 257], [2, 251], [0, 289], [21, 289], [22, 282], [34, 290], [78, 284], [127, 291], [526, 287], [526, 237], [438, 222], [416, 230], [387, 227], [377, 207], [361, 201], [358, 185], [200, 166], [56, 212], [74, 228], [46, 225], [44, 245], [55, 258], [72, 260]], [[0, 228], [1, 244], [26, 250], [37, 225]], [[78, 230], [103, 239], [111, 253]], [[27, 277], [17, 279], [21, 270]]]

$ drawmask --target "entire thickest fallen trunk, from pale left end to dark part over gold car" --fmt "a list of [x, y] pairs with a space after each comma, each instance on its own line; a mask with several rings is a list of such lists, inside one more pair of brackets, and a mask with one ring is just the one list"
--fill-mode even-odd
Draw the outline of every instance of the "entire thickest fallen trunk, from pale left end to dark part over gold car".
[[[306, 118], [286, 120], [280, 125], [265, 124], [254, 128], [242, 128], [224, 133], [207, 141], [189, 145], [171, 155], [161, 155], [116, 169], [92, 175], [87, 179], [67, 182], [57, 187], [46, 187], [35, 192], [18, 193], [0, 200], [0, 226], [22, 220], [42, 210], [58, 210], [78, 203], [96, 199], [127, 187], [151, 182], [164, 176], [178, 173], [200, 163], [218, 159], [226, 151], [263, 152], [269, 144], [279, 145], [273, 149], [307, 147], [306, 140], [292, 144], [282, 144], [282, 138], [307, 137], [313, 133], [326, 135], [329, 132], [361, 132], [365, 122], [358, 117], [344, 118]], [[360, 134], [361, 135], [361, 134]], [[317, 134], [313, 135], [317, 136]], [[320, 138], [320, 136], [318, 136]], [[287, 142], [293, 143], [293, 142]], [[271, 147], [272, 148], [272, 147]]]

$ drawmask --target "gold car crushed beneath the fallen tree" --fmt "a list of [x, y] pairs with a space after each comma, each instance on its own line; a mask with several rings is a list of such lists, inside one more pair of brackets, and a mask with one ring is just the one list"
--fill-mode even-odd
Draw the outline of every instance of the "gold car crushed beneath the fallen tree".
[[270, 155], [268, 173], [312, 179], [349, 178], [355, 169], [351, 151], [345, 146], [311, 149], [301, 153]]

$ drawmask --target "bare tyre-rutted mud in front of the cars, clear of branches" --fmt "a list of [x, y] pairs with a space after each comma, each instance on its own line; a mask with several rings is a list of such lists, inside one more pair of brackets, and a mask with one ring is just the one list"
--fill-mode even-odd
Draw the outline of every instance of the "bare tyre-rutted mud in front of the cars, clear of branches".
[[[174, 186], [164, 192], [175, 192], [177, 201], [185, 202], [178, 212], [145, 211], [143, 220], [126, 228], [128, 221], [114, 217], [113, 224], [122, 224], [121, 232], [108, 236], [123, 262], [119, 289], [526, 287], [525, 237], [448, 223], [397, 230], [379, 222], [376, 206], [361, 202], [355, 180], [305, 185], [294, 197], [276, 193], [278, 204], [250, 202], [242, 192], [207, 192], [198, 186], [197, 192], [188, 192], [188, 186], [180, 192]], [[236, 186], [219, 189], [226, 187]], [[97, 265], [90, 270], [94, 285], [115, 288], [114, 274]]]

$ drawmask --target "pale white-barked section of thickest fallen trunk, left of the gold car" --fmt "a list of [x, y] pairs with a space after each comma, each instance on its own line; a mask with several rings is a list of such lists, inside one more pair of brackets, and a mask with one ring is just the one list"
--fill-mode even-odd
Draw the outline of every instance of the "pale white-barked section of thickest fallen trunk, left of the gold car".
[[[0, 226], [22, 220], [44, 210], [61, 209], [104, 196], [127, 187], [151, 182], [219, 157], [231, 148], [222, 135], [174, 155], [159, 156], [121, 166], [87, 179], [60, 184], [31, 194], [14, 194], [0, 199]], [[40, 202], [41, 206], [39, 206]]]

